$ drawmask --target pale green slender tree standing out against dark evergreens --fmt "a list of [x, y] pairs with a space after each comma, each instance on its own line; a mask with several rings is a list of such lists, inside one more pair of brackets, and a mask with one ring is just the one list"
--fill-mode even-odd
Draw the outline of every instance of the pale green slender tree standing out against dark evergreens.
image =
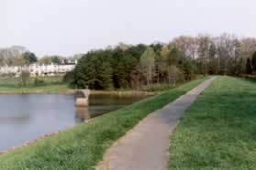
[[148, 47], [139, 59], [140, 67], [147, 80], [147, 85], [150, 84], [153, 78], [155, 68], [155, 52], [153, 48]]

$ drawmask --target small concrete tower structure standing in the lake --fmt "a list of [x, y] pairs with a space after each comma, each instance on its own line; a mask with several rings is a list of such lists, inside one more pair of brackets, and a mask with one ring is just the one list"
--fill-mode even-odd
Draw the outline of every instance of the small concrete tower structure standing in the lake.
[[75, 90], [75, 106], [88, 107], [89, 106], [90, 90]]

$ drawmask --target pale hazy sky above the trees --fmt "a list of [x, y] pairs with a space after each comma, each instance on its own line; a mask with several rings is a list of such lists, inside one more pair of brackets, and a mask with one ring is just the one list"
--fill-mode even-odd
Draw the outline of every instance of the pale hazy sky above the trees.
[[255, 0], [0, 0], [0, 47], [39, 57], [223, 32], [256, 37]]

